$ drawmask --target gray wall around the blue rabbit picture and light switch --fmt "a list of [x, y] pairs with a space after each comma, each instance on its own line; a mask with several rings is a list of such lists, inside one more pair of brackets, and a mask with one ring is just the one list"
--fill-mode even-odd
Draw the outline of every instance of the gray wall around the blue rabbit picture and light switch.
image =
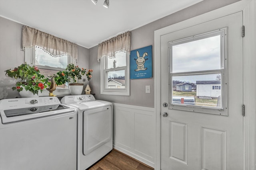
[[[156, 20], [152, 23], [144, 25], [132, 31], [131, 50], [153, 45], [153, 68], [154, 60], [158, 56], [154, 56], [154, 31], [180, 21], [193, 18], [200, 14], [215, 10], [217, 8], [232, 4], [239, 0], [204, 0], [180, 10], [174, 14]], [[100, 63], [97, 62], [98, 46], [89, 49], [89, 65], [93, 69], [93, 78], [90, 80], [92, 93], [98, 100], [107, 100], [114, 103], [130, 104], [136, 106], [154, 107], [154, 71], [153, 78], [142, 78], [130, 80], [130, 96], [102, 95], [100, 94]], [[150, 85], [151, 93], [145, 93], [145, 86]]]

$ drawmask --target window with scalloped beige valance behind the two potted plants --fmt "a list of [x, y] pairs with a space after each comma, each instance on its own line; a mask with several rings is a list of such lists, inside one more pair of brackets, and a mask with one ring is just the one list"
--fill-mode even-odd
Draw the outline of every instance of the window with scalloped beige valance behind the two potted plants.
[[[25, 62], [40, 68], [40, 73], [50, 78], [69, 63], [76, 64], [78, 46], [75, 43], [56, 37], [38, 29], [23, 25], [22, 47]], [[60, 86], [68, 88], [68, 83]]]

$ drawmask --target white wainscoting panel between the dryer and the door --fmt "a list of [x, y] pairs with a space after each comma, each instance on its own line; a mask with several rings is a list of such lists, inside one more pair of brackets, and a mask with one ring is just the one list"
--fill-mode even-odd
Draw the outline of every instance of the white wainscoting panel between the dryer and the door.
[[154, 108], [113, 104], [113, 147], [154, 167]]

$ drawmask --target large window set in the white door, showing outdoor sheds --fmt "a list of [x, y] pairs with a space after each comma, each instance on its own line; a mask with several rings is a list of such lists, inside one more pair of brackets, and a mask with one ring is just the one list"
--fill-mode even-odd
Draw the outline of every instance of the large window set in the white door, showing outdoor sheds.
[[[223, 111], [225, 34], [226, 29], [220, 29], [169, 43], [170, 108], [202, 113], [211, 110], [213, 114]], [[180, 86], [176, 88], [180, 83], [192, 88], [185, 85], [183, 92]]]

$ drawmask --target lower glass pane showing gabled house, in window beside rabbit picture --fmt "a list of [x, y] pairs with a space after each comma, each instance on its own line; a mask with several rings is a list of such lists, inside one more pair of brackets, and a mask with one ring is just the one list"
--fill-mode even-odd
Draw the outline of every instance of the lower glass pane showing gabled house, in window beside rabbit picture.
[[106, 88], [125, 88], [124, 70], [107, 72], [108, 82]]

